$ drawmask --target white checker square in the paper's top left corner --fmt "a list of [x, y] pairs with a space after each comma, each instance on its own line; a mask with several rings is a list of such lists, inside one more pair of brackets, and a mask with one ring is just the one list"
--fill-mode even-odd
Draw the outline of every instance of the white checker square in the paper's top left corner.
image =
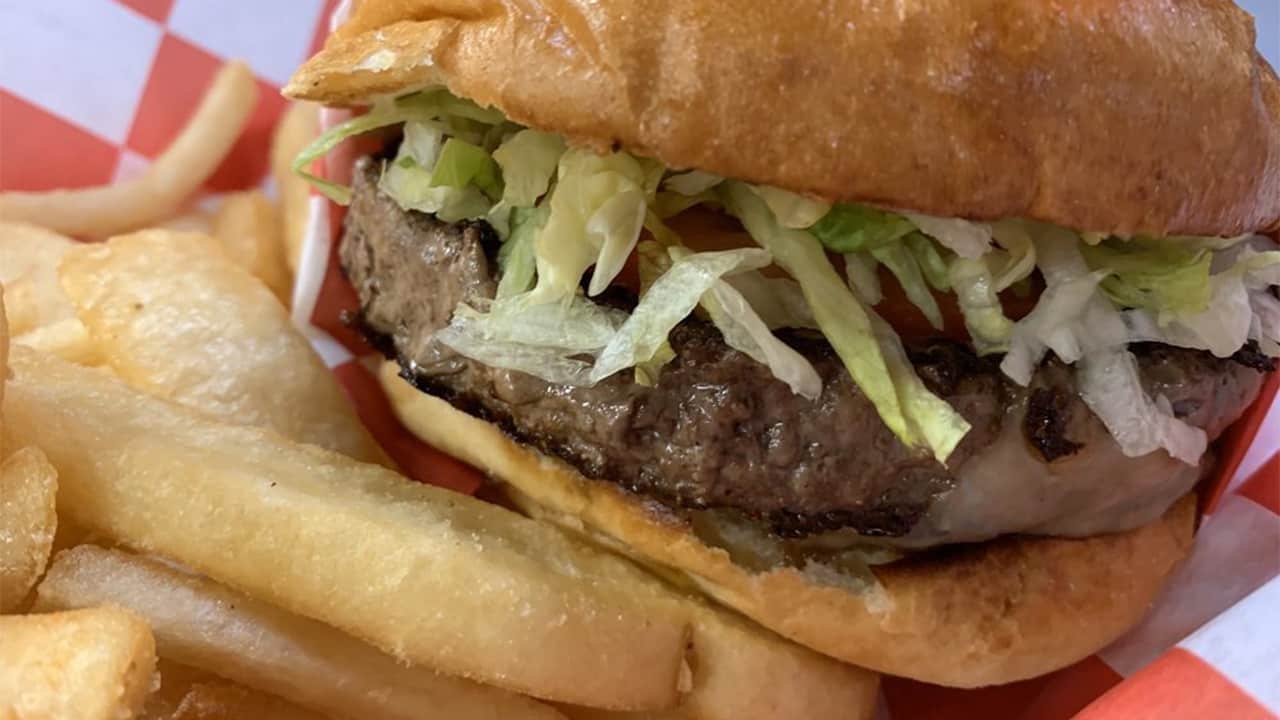
[[0, 87], [124, 145], [163, 29], [113, 0], [0, 0]]

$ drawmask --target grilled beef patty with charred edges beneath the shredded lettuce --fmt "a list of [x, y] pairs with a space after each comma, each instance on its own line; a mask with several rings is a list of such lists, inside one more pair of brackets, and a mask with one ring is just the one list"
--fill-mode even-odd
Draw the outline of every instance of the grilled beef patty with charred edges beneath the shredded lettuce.
[[[925, 547], [1128, 529], [1158, 516], [1199, 477], [1164, 452], [1124, 457], [1079, 400], [1069, 366], [1048, 361], [1023, 388], [997, 361], [950, 342], [909, 345], [929, 389], [973, 425], [950, 468], [904, 446], [826, 341], [800, 332], [783, 337], [822, 375], [815, 401], [695, 318], [671, 334], [676, 359], [657, 387], [636, 384], [630, 372], [586, 388], [485, 366], [433, 333], [460, 301], [493, 296], [497, 237], [483, 223], [402, 210], [379, 192], [370, 159], [355, 176], [340, 256], [366, 337], [420, 389], [669, 507], [727, 510], [781, 536], [852, 532]], [[1148, 392], [1211, 437], [1261, 386], [1265, 363], [1252, 356], [1134, 351]]]

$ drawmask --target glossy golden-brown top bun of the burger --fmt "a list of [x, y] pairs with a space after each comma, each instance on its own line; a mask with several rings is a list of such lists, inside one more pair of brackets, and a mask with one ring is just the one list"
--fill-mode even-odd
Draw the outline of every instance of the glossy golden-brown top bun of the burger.
[[1280, 79], [1225, 0], [364, 0], [285, 88], [444, 85], [832, 201], [1129, 234], [1280, 225]]

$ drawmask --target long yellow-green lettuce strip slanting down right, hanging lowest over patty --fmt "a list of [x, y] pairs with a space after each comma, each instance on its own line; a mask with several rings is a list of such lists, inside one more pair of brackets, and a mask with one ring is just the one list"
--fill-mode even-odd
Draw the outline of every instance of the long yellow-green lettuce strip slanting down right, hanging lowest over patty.
[[748, 233], [799, 281], [818, 327], [884, 424], [904, 443], [925, 447], [945, 462], [969, 432], [969, 423], [924, 388], [897, 336], [888, 329], [877, 332], [882, 322], [854, 297], [813, 236], [778, 224], [764, 201], [742, 183], [726, 182], [718, 190]]

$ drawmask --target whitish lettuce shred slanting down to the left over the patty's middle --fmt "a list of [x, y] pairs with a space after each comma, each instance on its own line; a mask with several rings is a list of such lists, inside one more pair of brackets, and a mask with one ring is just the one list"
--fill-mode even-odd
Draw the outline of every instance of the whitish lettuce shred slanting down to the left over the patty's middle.
[[591, 382], [650, 360], [667, 341], [667, 334], [692, 313], [703, 295], [716, 282], [735, 270], [758, 269], [772, 263], [758, 249], [695, 252], [673, 259], [640, 300], [591, 369]]

